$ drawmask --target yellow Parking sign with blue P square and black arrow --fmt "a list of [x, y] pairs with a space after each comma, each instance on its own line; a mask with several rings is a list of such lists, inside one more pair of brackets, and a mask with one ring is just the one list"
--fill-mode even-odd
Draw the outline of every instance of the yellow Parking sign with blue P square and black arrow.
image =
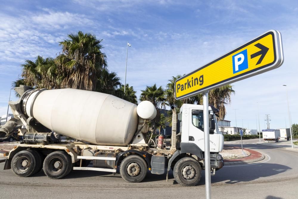
[[197, 95], [283, 64], [280, 32], [269, 30], [175, 82], [176, 100]]

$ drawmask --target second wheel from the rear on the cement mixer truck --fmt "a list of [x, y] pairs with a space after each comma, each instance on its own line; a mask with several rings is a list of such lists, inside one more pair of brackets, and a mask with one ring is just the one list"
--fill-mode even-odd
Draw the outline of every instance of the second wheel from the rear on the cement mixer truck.
[[44, 173], [51, 179], [60, 179], [71, 172], [72, 162], [65, 152], [55, 151], [44, 159]]

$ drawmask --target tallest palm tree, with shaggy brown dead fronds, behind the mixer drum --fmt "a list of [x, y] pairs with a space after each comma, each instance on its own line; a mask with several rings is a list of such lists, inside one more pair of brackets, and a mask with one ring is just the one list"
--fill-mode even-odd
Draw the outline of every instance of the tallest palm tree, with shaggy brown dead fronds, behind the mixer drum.
[[107, 67], [103, 46], [94, 35], [71, 33], [69, 39], [59, 42], [62, 54], [58, 55], [59, 73], [63, 74], [62, 87], [82, 90], [95, 90], [97, 79]]

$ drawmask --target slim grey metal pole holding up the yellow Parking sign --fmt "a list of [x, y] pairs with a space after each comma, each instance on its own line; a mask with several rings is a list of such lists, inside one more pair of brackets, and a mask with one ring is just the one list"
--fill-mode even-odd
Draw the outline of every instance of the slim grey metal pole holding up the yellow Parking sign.
[[203, 115], [204, 115], [204, 146], [205, 146], [205, 186], [206, 198], [211, 198], [211, 168], [210, 168], [210, 145], [209, 145], [209, 104], [208, 92], [203, 93]]

